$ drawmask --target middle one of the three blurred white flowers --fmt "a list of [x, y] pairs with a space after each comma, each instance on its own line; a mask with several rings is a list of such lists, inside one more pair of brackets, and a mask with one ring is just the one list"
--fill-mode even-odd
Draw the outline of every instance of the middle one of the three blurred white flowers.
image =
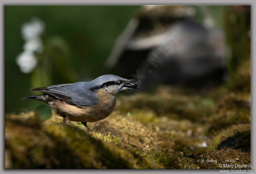
[[31, 51], [36, 53], [42, 53], [44, 51], [42, 40], [39, 37], [34, 37], [28, 40], [24, 45], [23, 49], [25, 51]]

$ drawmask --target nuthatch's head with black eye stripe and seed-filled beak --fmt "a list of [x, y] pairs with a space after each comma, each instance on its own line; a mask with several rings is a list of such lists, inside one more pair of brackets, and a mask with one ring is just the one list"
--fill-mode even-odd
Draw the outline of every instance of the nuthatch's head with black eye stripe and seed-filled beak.
[[102, 75], [92, 80], [92, 83], [95, 89], [103, 88], [109, 93], [117, 94], [123, 90], [138, 89], [137, 80], [138, 79], [124, 79], [117, 75]]

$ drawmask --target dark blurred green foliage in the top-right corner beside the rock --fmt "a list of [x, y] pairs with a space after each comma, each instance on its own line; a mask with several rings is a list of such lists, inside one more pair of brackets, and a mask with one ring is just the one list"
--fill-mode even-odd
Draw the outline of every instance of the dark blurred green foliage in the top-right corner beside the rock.
[[251, 6], [225, 6], [224, 27], [227, 43], [231, 47], [231, 55], [228, 59], [229, 69], [233, 73], [243, 59], [250, 59]]

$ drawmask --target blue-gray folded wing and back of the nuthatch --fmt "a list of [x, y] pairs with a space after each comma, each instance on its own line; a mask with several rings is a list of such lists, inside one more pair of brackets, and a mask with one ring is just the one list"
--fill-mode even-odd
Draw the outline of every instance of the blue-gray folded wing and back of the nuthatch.
[[49, 94], [57, 99], [64, 100], [70, 105], [93, 107], [97, 105], [98, 98], [96, 94], [88, 89], [87, 83], [88, 82], [58, 84], [42, 88], [33, 88], [30, 90]]

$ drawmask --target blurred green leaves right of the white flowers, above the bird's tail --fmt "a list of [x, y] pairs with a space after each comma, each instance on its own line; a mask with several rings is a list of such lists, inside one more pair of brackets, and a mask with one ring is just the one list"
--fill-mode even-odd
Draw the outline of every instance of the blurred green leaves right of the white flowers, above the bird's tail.
[[54, 81], [57, 83], [77, 81], [76, 72], [68, 60], [69, 46], [63, 38], [59, 36], [44, 38], [44, 52], [37, 57], [38, 65], [32, 72], [31, 86], [50, 86]]

